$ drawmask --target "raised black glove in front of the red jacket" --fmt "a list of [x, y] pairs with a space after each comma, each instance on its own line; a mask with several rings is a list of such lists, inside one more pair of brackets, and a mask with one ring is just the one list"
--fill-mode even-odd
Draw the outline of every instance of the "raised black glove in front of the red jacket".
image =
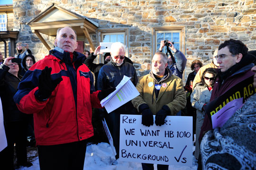
[[52, 68], [48, 68], [46, 66], [45, 69], [42, 70], [41, 75], [39, 75], [38, 90], [35, 92], [35, 97], [39, 101], [45, 101], [47, 98], [49, 98], [57, 85], [63, 80], [61, 77], [52, 80], [51, 72]]

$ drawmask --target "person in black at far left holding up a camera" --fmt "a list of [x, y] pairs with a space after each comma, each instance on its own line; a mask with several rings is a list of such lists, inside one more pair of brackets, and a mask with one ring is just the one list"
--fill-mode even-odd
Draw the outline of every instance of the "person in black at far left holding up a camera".
[[14, 57], [6, 58], [0, 65], [0, 97], [8, 143], [0, 152], [0, 165], [5, 170], [14, 170], [14, 143], [18, 166], [32, 166], [32, 163], [27, 161], [27, 115], [18, 110], [13, 100], [22, 76], [18, 74], [19, 64], [12, 63], [11, 59]]

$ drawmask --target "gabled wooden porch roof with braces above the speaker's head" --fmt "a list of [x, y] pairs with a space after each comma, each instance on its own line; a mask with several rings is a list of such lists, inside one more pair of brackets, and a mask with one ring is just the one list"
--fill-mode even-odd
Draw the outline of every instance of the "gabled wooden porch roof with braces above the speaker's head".
[[56, 4], [52, 4], [36, 18], [29, 21], [27, 25], [31, 27], [32, 32], [38, 36], [48, 50], [51, 48], [40, 33], [56, 36], [57, 29], [61, 27], [72, 27], [77, 36], [86, 36], [92, 50], [95, 50], [90, 34], [96, 33], [96, 29], [99, 26], [98, 23], [85, 16], [63, 9]]

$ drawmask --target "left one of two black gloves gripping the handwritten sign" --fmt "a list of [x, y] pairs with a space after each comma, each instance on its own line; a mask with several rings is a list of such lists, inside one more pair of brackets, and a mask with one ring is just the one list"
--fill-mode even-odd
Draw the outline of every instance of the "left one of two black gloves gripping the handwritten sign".
[[150, 126], [154, 124], [153, 113], [149, 109], [147, 104], [142, 104], [139, 106], [139, 112], [142, 114], [142, 125]]

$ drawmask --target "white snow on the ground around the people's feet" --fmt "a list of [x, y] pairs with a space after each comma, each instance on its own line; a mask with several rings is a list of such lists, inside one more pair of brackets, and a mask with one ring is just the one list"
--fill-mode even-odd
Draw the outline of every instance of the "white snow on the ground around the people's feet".
[[[195, 147], [193, 146], [193, 151], [194, 150]], [[35, 153], [28, 153], [27, 157], [32, 154]], [[110, 144], [90, 144], [86, 149], [83, 170], [142, 170], [141, 163], [138, 162], [119, 161], [118, 159], [118, 164], [112, 165], [113, 161], [115, 161], [115, 157], [113, 155]], [[32, 163], [33, 166], [29, 168], [20, 167], [18, 170], [40, 170], [38, 157]], [[156, 170], [156, 165], [154, 166]], [[197, 162], [193, 157], [192, 167], [170, 165], [169, 170], [197, 170]]]

